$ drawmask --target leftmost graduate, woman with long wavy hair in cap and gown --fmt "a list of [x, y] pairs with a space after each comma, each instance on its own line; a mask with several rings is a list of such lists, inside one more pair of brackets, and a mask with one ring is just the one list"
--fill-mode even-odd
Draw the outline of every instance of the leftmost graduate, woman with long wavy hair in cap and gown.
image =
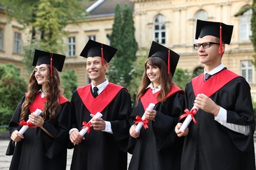
[[[66, 169], [72, 107], [62, 95], [58, 75], [64, 59], [60, 54], [35, 50], [28, 92], [9, 123], [7, 155], [13, 154], [10, 169]], [[40, 115], [30, 114], [36, 109], [42, 111]], [[19, 132], [22, 125], [29, 126], [23, 134]]]

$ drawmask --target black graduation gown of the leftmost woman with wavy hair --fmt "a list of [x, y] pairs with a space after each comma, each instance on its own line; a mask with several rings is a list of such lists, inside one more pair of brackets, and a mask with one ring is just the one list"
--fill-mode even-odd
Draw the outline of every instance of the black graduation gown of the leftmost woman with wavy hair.
[[[9, 124], [10, 134], [14, 130], [19, 130], [17, 122], [20, 122], [20, 110], [25, 97], [22, 97]], [[66, 170], [66, 155], [68, 146], [68, 130], [71, 126], [72, 107], [70, 102], [60, 105], [60, 110], [56, 112], [56, 118], [52, 122], [45, 121], [43, 127], [54, 137], [49, 137], [40, 127], [28, 128], [24, 132], [24, 139], [16, 143], [11, 160], [10, 169], [28, 170]], [[25, 120], [28, 120], [26, 118]], [[14, 142], [11, 141], [13, 144]], [[7, 149], [7, 154], [10, 147]]]

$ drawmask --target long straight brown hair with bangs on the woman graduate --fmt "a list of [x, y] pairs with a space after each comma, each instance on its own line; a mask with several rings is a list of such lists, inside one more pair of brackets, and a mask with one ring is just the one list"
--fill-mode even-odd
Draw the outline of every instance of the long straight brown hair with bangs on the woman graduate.
[[148, 87], [148, 84], [150, 84], [150, 79], [146, 75], [147, 64], [155, 65], [156, 67], [160, 68], [161, 91], [158, 95], [158, 101], [163, 102], [165, 101], [165, 97], [171, 91], [171, 87], [173, 86], [173, 76], [171, 74], [168, 75], [168, 66], [165, 61], [163, 61], [163, 59], [158, 57], [150, 57], [144, 63], [144, 73], [137, 93], [137, 103], [140, 97], [146, 93], [146, 88]]

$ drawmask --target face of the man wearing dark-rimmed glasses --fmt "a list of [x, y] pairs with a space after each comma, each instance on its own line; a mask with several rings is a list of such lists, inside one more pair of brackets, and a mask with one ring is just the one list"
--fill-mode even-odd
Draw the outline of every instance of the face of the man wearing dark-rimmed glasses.
[[[218, 42], [216, 37], [211, 35], [207, 35], [205, 37], [199, 38], [198, 43], [203, 42]], [[223, 44], [224, 51], [224, 44]], [[198, 57], [200, 58], [200, 62], [205, 65], [205, 69], [207, 72], [211, 71], [215, 67], [221, 64], [221, 53], [220, 53], [220, 45], [219, 44], [211, 44], [209, 48], [203, 48], [200, 46], [198, 49]]]

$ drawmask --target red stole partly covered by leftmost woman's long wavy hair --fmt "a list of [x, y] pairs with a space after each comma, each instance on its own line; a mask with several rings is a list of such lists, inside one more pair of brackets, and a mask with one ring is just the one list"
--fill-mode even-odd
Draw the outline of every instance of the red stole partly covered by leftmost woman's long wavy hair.
[[[27, 95], [27, 93], [26, 93], [26, 95]], [[64, 97], [64, 95], [60, 95], [58, 97], [58, 100], [59, 100], [60, 105], [62, 103], [68, 102], [68, 99], [66, 99], [66, 97]], [[33, 101], [33, 103], [29, 106], [30, 112], [34, 112], [36, 109], [43, 110], [43, 105], [45, 104], [45, 101], [46, 101], [46, 97], [41, 98], [41, 93], [37, 93], [37, 95], [35, 96], [35, 101]]]

